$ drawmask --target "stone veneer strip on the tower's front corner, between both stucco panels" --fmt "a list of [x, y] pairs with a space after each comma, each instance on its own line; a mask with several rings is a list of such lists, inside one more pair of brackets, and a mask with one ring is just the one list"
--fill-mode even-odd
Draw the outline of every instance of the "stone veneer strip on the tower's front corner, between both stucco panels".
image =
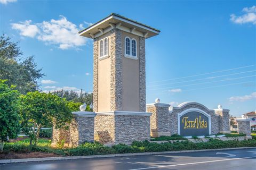
[[110, 31], [110, 109], [122, 111], [122, 31]]

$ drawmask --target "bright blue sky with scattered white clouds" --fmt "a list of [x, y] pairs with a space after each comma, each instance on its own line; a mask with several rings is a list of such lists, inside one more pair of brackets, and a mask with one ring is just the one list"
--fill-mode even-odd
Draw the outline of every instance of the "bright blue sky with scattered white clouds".
[[92, 40], [77, 31], [118, 13], [161, 30], [146, 40], [147, 103], [256, 109], [255, 1], [7, 1], [0, 31], [46, 74], [42, 90], [92, 91]]

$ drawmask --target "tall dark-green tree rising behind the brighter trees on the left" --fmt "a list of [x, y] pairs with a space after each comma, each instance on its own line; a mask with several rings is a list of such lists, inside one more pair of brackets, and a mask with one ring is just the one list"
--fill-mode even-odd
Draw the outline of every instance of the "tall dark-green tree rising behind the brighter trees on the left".
[[42, 69], [37, 69], [34, 56], [23, 59], [18, 43], [9, 37], [0, 36], [0, 79], [7, 79], [9, 86], [15, 85], [22, 94], [38, 90], [37, 80], [44, 76]]

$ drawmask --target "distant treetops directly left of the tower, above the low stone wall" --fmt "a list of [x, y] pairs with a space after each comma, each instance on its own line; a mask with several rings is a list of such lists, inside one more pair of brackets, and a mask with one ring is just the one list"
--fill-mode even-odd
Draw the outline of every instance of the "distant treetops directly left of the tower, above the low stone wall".
[[86, 105], [90, 105], [93, 102], [93, 94], [87, 92], [83, 92], [81, 95], [72, 90], [61, 89], [53, 91], [52, 94], [65, 98], [68, 101], [74, 101], [75, 103], [85, 103]]

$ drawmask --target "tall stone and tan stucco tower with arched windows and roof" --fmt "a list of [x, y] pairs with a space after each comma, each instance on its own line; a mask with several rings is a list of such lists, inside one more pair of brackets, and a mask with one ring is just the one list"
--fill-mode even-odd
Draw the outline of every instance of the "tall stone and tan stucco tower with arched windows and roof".
[[145, 39], [159, 32], [114, 13], [79, 32], [93, 39], [94, 140], [131, 143], [150, 139]]

